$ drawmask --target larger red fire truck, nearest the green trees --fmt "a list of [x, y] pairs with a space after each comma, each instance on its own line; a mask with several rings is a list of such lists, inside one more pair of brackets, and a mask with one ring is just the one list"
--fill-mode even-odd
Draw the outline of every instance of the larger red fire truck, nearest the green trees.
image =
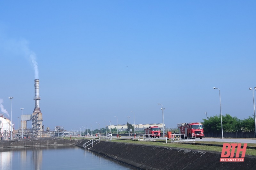
[[181, 137], [199, 137], [200, 139], [202, 139], [202, 137], [204, 136], [204, 129], [202, 123], [179, 123], [178, 129]]

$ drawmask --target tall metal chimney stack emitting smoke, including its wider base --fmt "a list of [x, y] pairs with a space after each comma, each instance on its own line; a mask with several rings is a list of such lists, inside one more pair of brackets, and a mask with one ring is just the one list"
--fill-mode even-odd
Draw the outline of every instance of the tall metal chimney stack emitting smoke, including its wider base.
[[[32, 129], [36, 133], [36, 137], [40, 137], [40, 134], [43, 132], [43, 117], [42, 112], [39, 107], [39, 80], [35, 80], [35, 109], [32, 113]], [[34, 134], [35, 135], [35, 134]]]

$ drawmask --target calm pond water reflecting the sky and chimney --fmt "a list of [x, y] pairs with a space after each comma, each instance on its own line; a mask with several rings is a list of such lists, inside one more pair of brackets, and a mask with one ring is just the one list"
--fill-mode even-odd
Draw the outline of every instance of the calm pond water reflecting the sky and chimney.
[[3, 170], [135, 170], [74, 145], [0, 149]]

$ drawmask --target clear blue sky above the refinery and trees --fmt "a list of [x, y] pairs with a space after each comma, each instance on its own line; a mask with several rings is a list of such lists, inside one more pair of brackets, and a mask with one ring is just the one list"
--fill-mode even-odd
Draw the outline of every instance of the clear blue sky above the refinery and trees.
[[[0, 1], [0, 99], [43, 125], [93, 129], [253, 115], [255, 1]], [[8, 117], [8, 116], [7, 116]], [[97, 123], [96, 123], [97, 122]]]

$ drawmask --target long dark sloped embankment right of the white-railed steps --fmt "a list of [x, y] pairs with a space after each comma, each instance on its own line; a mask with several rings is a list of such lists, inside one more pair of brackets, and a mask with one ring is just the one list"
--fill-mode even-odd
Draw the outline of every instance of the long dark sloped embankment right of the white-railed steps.
[[141, 144], [100, 141], [89, 151], [145, 170], [168, 169], [256, 169], [256, 157], [246, 155], [244, 162], [220, 162], [220, 152], [166, 148]]

